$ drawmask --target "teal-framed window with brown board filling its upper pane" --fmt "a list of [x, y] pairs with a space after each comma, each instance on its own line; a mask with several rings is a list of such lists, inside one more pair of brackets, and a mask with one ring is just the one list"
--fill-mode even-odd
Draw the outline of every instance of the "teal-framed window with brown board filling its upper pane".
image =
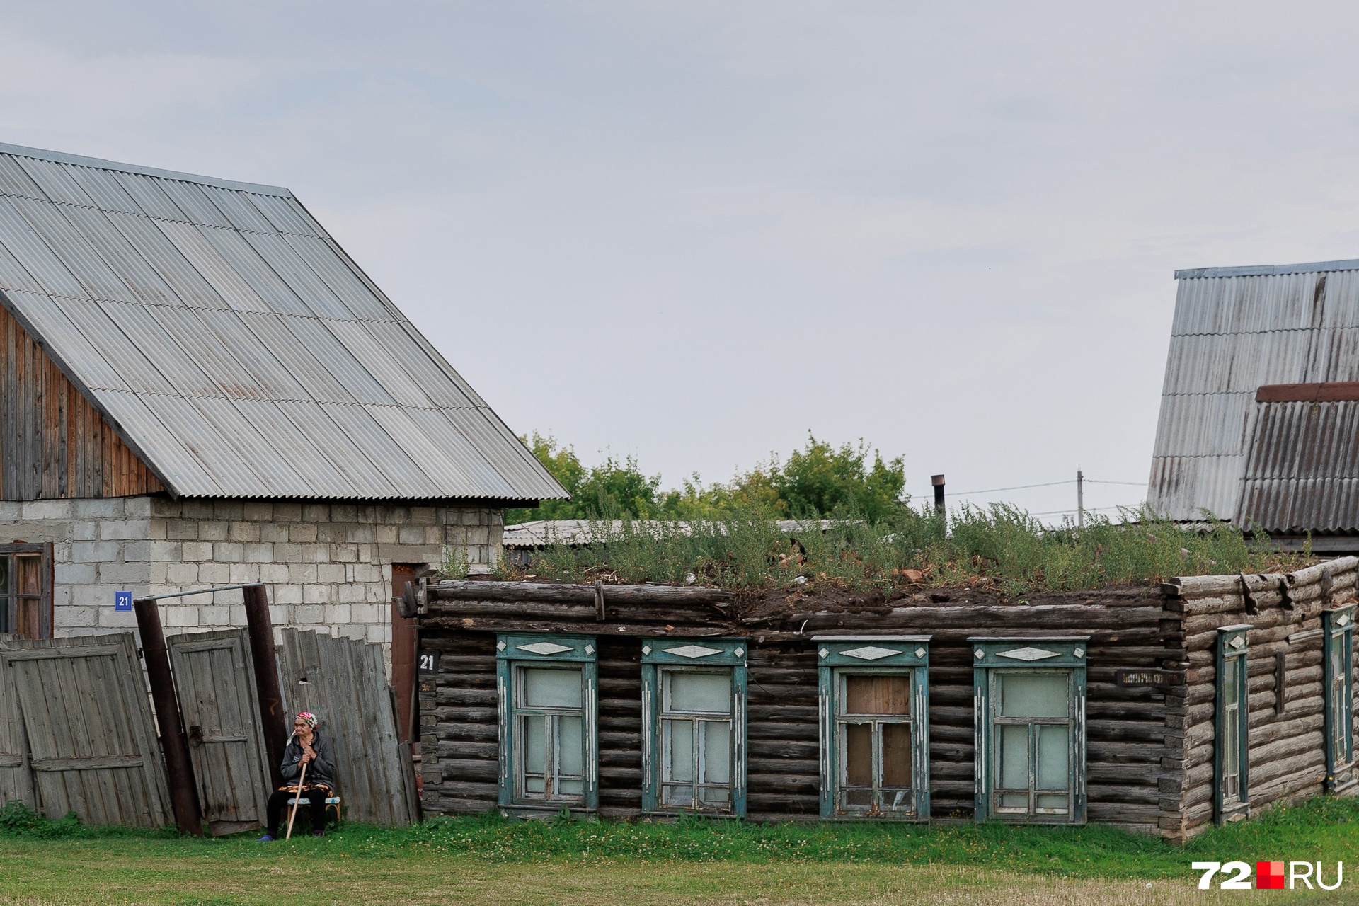
[[814, 636], [821, 816], [930, 820], [930, 636]]

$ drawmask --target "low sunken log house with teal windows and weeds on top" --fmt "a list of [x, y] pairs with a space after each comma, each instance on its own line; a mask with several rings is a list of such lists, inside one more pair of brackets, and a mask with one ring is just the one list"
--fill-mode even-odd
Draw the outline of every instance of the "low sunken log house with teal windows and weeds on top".
[[1014, 599], [428, 584], [424, 810], [1185, 841], [1356, 788], [1356, 566]]

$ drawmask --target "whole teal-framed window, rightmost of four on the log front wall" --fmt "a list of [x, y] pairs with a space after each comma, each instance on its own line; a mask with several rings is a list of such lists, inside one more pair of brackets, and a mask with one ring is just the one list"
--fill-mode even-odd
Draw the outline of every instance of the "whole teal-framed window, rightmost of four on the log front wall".
[[1087, 640], [968, 640], [978, 822], [1084, 823]]

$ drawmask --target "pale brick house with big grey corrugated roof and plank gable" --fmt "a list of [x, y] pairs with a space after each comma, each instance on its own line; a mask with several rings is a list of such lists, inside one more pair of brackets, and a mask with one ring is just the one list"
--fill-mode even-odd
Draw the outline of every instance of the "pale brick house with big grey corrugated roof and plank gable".
[[0, 632], [264, 581], [276, 626], [390, 642], [394, 587], [563, 496], [287, 189], [0, 145]]

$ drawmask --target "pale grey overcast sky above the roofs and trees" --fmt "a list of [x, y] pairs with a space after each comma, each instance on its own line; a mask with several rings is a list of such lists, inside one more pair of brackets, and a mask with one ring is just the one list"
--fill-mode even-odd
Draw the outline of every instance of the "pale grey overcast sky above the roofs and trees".
[[511, 428], [586, 462], [724, 479], [811, 431], [905, 456], [917, 497], [1144, 482], [1173, 270], [1359, 257], [1356, 26], [7, 1], [0, 141], [291, 187]]

